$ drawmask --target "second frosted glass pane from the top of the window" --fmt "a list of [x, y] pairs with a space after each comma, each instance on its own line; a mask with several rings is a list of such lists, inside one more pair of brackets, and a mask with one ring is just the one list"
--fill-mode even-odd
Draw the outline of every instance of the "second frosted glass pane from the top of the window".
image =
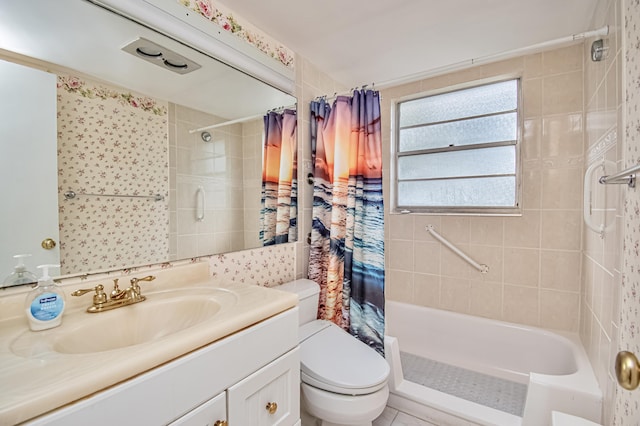
[[462, 121], [400, 129], [400, 152], [487, 142], [515, 141], [515, 112]]

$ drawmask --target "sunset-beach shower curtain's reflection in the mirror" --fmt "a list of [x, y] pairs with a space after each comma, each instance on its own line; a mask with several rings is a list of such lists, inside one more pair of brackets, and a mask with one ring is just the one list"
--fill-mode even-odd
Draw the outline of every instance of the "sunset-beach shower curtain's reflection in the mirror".
[[260, 240], [262, 245], [296, 241], [298, 233], [296, 112], [264, 116]]

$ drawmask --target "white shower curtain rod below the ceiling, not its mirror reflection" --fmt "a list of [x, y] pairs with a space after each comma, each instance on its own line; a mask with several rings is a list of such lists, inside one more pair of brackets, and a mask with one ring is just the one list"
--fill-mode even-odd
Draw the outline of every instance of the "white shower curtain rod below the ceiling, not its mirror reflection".
[[464, 61], [456, 62], [451, 65], [444, 65], [442, 67], [433, 68], [428, 71], [423, 71], [415, 74], [410, 74], [404, 77], [395, 78], [382, 83], [378, 83], [378, 86], [382, 88], [388, 88], [393, 86], [399, 86], [405, 83], [411, 83], [425, 78], [435, 77], [438, 75], [446, 74], [449, 72], [460, 71], [466, 68], [470, 68], [474, 65], [487, 64], [491, 62], [497, 62], [504, 59], [514, 58], [516, 56], [522, 56], [525, 54], [532, 54], [547, 50], [551, 47], [560, 47], [568, 45], [574, 41], [584, 40], [590, 37], [606, 36], [609, 35], [609, 26], [604, 26], [597, 30], [585, 31], [583, 33], [573, 34], [566, 37], [560, 37], [542, 43], [532, 44], [530, 46], [520, 47], [517, 49], [507, 50], [501, 53], [495, 53], [487, 56], [480, 56], [478, 58], [471, 58]]

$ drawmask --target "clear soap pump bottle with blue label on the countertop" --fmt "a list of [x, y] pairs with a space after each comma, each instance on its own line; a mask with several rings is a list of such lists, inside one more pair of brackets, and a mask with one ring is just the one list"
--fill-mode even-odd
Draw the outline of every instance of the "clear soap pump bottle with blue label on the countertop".
[[64, 312], [64, 293], [49, 276], [49, 268], [60, 265], [40, 265], [42, 277], [38, 286], [31, 290], [25, 301], [25, 311], [29, 320], [29, 328], [33, 331], [47, 330], [62, 324]]

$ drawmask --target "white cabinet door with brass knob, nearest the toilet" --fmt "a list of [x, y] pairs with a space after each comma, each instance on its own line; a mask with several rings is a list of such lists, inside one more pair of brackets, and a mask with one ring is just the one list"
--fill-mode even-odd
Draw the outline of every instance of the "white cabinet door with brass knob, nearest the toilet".
[[298, 348], [227, 390], [229, 426], [293, 426], [300, 419]]

